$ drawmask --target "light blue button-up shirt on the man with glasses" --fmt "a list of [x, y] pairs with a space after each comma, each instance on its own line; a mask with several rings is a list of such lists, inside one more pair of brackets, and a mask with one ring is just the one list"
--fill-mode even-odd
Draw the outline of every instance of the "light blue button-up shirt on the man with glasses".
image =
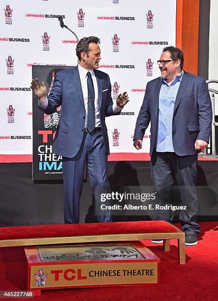
[[183, 77], [183, 70], [168, 85], [163, 79], [159, 94], [159, 122], [157, 151], [174, 151], [172, 143], [172, 120], [176, 95]]

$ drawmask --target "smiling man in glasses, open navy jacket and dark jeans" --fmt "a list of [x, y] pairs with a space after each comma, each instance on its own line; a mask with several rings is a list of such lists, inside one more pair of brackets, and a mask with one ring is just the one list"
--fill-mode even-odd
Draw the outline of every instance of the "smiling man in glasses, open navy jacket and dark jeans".
[[196, 161], [198, 152], [209, 142], [212, 107], [205, 80], [183, 70], [183, 62], [179, 48], [163, 49], [158, 60], [161, 77], [147, 84], [136, 121], [134, 146], [142, 148], [143, 135], [151, 121], [151, 178], [159, 205], [156, 219], [171, 221], [170, 210], [159, 208], [169, 205], [170, 186], [176, 178], [184, 206], [179, 216], [182, 230], [186, 245], [193, 245], [200, 232], [196, 223]]

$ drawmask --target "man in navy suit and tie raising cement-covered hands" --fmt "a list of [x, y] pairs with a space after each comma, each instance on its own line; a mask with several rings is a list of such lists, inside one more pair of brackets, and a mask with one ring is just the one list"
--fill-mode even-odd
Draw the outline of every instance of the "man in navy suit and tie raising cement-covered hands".
[[[64, 181], [64, 221], [79, 223], [84, 166], [87, 162], [95, 201], [100, 206], [97, 191], [107, 190], [107, 158], [109, 140], [105, 117], [119, 114], [129, 101], [126, 92], [119, 94], [116, 104], [111, 98], [109, 75], [96, 70], [101, 60], [95, 36], [82, 38], [76, 47], [80, 60], [77, 67], [56, 74], [47, 97], [45, 84], [32, 80], [31, 88], [39, 99], [39, 108], [52, 114], [61, 105], [53, 152], [62, 156]], [[97, 206], [98, 206], [97, 205]], [[98, 221], [110, 221], [109, 211], [97, 216]]]

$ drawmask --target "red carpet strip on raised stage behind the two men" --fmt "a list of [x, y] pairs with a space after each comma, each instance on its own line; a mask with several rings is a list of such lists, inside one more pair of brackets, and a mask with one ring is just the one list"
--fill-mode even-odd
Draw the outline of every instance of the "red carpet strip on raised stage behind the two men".
[[[210, 157], [198, 157], [199, 161], [218, 161]], [[108, 161], [150, 161], [149, 153], [114, 152]], [[0, 163], [32, 162], [32, 154], [0, 154]]]

